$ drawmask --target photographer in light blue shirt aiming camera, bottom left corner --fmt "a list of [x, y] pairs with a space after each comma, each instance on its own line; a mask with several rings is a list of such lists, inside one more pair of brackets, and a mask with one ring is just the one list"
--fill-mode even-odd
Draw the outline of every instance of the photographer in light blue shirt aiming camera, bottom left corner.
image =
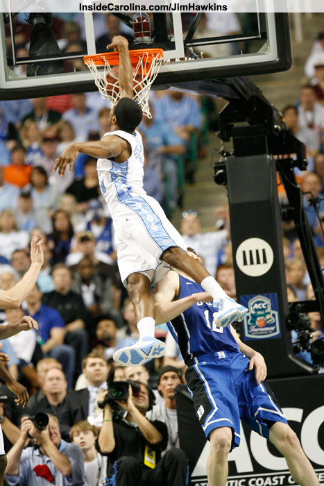
[[[34, 445], [26, 447], [29, 437]], [[10, 485], [19, 486], [43, 486], [48, 482], [83, 486], [83, 454], [76, 444], [61, 439], [58, 419], [53, 415], [39, 413], [33, 420], [23, 417], [20, 437], [8, 452], [6, 479]]]

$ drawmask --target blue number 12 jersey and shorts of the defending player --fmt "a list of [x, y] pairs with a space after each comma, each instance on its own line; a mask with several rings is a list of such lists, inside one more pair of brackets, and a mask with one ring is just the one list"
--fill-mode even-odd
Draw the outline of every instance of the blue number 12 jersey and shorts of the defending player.
[[[203, 292], [198, 283], [179, 278], [179, 299]], [[215, 312], [211, 303], [198, 302], [168, 326], [188, 364], [187, 387], [205, 436], [209, 438], [215, 428], [230, 427], [234, 449], [240, 442], [240, 419], [267, 439], [269, 424], [287, 420], [270, 387], [257, 385], [255, 369], [248, 370], [249, 360], [230, 328], [213, 324]]]

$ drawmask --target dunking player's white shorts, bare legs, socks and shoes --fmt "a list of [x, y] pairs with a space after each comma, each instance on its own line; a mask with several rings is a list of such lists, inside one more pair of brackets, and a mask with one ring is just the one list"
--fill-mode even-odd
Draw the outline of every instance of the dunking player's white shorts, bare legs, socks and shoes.
[[185, 242], [157, 201], [148, 196], [133, 197], [119, 211], [121, 214], [114, 221], [118, 265], [134, 305], [139, 341], [117, 350], [115, 361], [137, 366], [148, 358], [164, 355], [164, 343], [154, 337], [155, 306], [151, 294], [151, 278], [159, 260], [166, 262], [163, 265], [167, 269], [171, 265], [184, 271], [212, 296], [218, 312], [217, 325], [228, 326], [243, 319], [248, 310], [230, 299], [205, 268], [188, 255]]

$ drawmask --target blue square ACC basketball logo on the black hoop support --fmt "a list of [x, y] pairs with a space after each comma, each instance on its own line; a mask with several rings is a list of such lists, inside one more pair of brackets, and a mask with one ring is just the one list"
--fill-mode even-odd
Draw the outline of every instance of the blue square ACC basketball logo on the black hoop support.
[[[250, 296], [245, 305], [250, 311], [244, 319], [244, 335], [247, 339], [280, 337], [277, 294]], [[248, 296], [244, 296], [248, 297]], [[242, 299], [241, 299], [242, 301]], [[275, 310], [277, 309], [277, 310]]]

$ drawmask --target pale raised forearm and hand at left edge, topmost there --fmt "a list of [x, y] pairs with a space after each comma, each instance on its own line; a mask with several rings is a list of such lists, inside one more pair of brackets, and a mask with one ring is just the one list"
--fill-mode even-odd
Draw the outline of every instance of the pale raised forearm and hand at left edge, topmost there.
[[12, 287], [12, 289], [0, 290], [1, 309], [17, 309], [22, 305], [26, 296], [33, 290], [43, 263], [42, 238], [35, 236], [31, 240], [31, 266], [26, 271], [26, 274], [24, 274], [22, 280]]

